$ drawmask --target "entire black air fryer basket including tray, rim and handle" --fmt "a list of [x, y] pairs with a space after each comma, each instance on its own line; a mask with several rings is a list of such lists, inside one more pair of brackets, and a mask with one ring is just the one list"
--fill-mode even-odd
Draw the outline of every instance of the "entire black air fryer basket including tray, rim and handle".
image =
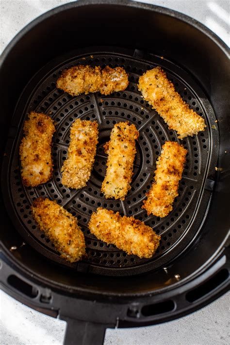
[[[111, 96], [70, 97], [56, 89], [66, 67], [124, 66], [127, 90]], [[147, 216], [141, 201], [166, 140], [179, 141], [137, 89], [139, 76], [162, 66], [207, 128], [181, 141], [188, 149], [180, 194], [165, 218]], [[68, 322], [66, 344], [101, 344], [108, 327], [152, 325], [213, 301], [228, 289], [230, 224], [229, 59], [225, 44], [196, 20], [165, 8], [128, 1], [79, 1], [55, 8], [25, 27], [1, 58], [0, 280], [9, 295]], [[31, 110], [56, 123], [54, 176], [26, 189], [18, 146]], [[99, 147], [92, 177], [81, 191], [64, 190], [60, 165], [75, 118], [97, 119]], [[137, 126], [140, 138], [132, 189], [124, 202], [100, 194], [106, 157], [102, 146], [118, 121]], [[68, 264], [31, 218], [37, 196], [56, 199], [78, 217], [88, 259]], [[134, 215], [161, 234], [151, 260], [126, 256], [87, 229], [103, 206]], [[78, 344], [77, 343], [77, 344]]]

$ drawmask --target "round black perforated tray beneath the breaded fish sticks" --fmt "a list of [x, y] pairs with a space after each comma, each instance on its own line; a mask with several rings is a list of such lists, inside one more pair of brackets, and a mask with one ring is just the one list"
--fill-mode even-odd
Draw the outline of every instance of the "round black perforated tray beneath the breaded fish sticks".
[[[158, 56], [144, 56], [138, 50], [106, 49], [85, 49], [58, 58], [40, 70], [27, 85], [19, 100], [7, 143], [7, 150], [11, 153], [10, 164], [9, 159], [3, 164], [8, 191], [4, 197], [12, 221], [26, 242], [50, 260], [78, 271], [131, 275], [164, 266], [179, 255], [200, 230], [211, 195], [212, 188], [210, 183], [207, 184], [207, 178], [212, 178], [214, 174], [218, 131], [213, 109], [191, 75]], [[122, 66], [129, 73], [129, 86], [127, 90], [109, 96], [96, 93], [72, 97], [57, 89], [55, 82], [64, 68], [76, 64]], [[164, 68], [181, 97], [205, 118], [207, 128], [204, 132], [180, 141], [176, 132], [170, 131], [163, 119], [142, 99], [137, 88], [139, 76], [154, 66]], [[25, 188], [20, 178], [18, 148], [23, 135], [23, 122], [32, 110], [49, 114], [56, 122], [52, 147], [54, 171], [53, 178], [44, 185]], [[87, 186], [81, 190], [63, 186], [60, 172], [69, 145], [69, 129], [76, 118], [97, 120], [99, 123], [99, 145], [94, 168]], [[105, 199], [100, 192], [106, 170], [103, 144], [109, 140], [114, 124], [126, 120], [135, 124], [140, 132], [131, 190], [124, 201]], [[159, 218], [148, 216], [141, 206], [153, 181], [156, 159], [167, 140], [182, 143], [188, 149], [188, 155], [173, 211], [167, 217]], [[86, 240], [87, 259], [70, 264], [60, 258], [53, 244], [38, 230], [32, 218], [30, 208], [36, 197], [56, 200], [78, 218]], [[161, 234], [162, 241], [154, 257], [147, 260], [127, 255], [92, 235], [87, 223], [99, 206], [127, 216], [133, 215]]]

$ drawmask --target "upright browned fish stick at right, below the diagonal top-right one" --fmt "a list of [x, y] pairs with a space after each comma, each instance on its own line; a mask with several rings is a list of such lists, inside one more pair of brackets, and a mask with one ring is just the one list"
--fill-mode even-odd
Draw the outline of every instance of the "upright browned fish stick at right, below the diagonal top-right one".
[[172, 204], [178, 196], [179, 181], [186, 161], [187, 150], [173, 141], [167, 141], [162, 146], [161, 156], [157, 161], [155, 182], [146, 194], [142, 208], [148, 214], [165, 217], [172, 211]]

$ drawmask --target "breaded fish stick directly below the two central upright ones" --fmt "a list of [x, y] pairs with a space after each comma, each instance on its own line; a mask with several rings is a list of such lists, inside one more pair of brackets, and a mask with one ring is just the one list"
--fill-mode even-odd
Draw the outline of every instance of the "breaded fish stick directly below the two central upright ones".
[[161, 239], [144, 222], [133, 217], [121, 217], [118, 212], [101, 207], [91, 215], [88, 227], [100, 240], [139, 258], [151, 258]]

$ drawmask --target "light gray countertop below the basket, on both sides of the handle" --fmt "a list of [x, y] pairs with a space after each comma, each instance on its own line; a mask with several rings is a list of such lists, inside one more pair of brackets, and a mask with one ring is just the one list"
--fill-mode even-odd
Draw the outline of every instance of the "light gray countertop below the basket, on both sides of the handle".
[[[107, 329], [104, 345], [228, 345], [229, 297], [230, 293], [191, 315], [161, 325]], [[0, 298], [1, 345], [63, 344], [65, 321], [36, 312], [3, 292]]]

